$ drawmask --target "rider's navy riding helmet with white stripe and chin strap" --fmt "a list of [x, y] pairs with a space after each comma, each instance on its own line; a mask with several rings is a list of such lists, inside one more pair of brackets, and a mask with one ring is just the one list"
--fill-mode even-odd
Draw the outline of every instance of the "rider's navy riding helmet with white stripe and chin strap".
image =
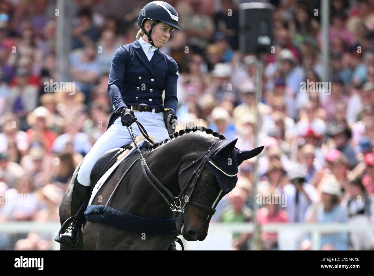
[[[145, 19], [153, 20], [153, 23], [151, 25], [151, 28], [149, 29], [149, 32], [146, 32], [143, 26], [143, 22]], [[164, 22], [180, 30], [180, 28], [178, 27], [178, 21], [179, 21], [178, 13], [171, 4], [166, 3], [164, 1], [153, 1], [153, 2], [146, 4], [142, 8], [139, 14], [138, 25], [142, 29], [144, 34], [147, 35], [148, 40], [152, 44], [152, 46], [154, 46], [154, 44], [151, 39], [151, 33], [152, 33], [153, 26], [157, 23], [157, 21]]]

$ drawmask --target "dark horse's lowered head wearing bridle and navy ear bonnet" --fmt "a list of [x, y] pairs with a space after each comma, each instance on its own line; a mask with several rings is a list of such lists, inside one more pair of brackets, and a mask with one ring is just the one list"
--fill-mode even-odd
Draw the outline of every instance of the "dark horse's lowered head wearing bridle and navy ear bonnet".
[[[236, 141], [218, 140], [212, 144], [205, 158], [193, 163], [187, 170], [182, 170], [183, 166], [180, 168], [178, 182], [186, 190], [182, 197], [185, 201], [182, 203], [184, 213], [179, 213], [177, 230], [187, 241], [205, 239], [214, 208], [236, 185], [239, 165], [260, 154], [264, 148], [240, 151], [235, 147]], [[205, 163], [199, 167], [203, 161]], [[196, 175], [199, 175], [196, 182], [188, 182]]]

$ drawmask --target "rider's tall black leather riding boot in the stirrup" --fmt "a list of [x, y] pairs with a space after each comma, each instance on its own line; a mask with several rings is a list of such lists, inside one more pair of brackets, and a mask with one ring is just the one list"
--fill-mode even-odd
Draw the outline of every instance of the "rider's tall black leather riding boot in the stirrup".
[[89, 186], [84, 186], [77, 181], [76, 176], [73, 193], [71, 195], [71, 215], [72, 222], [70, 226], [62, 233], [59, 238], [56, 237], [55, 241], [61, 244], [67, 245], [72, 248], [76, 248], [77, 241], [80, 233], [80, 228], [84, 220], [84, 212], [86, 210], [89, 200]]

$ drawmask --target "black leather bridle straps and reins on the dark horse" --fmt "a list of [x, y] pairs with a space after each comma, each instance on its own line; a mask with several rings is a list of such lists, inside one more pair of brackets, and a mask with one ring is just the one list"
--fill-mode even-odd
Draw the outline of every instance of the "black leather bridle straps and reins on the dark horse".
[[[204, 165], [205, 165], [206, 162], [211, 163], [215, 168], [217, 168], [221, 173], [224, 173], [226, 176], [236, 176], [237, 173], [239, 172], [239, 169], [238, 169], [237, 172], [234, 175], [230, 175], [229, 173], [225, 172], [223, 169], [221, 169], [220, 167], [218, 167], [210, 159], [210, 157], [213, 156], [213, 154], [220, 147], [222, 147], [225, 144], [226, 141], [224, 141], [224, 140], [218, 141], [211, 149], [205, 151], [205, 153], [203, 153], [202, 156], [200, 156], [196, 160], [193, 160], [190, 164], [188, 164], [186, 167], [183, 167], [180, 170], [180, 172], [178, 173], [178, 176], [181, 175], [181, 173], [183, 173], [189, 167], [191, 167], [194, 164], [196, 164], [201, 159], [201, 161], [200, 161], [199, 165], [197, 166], [197, 168], [194, 169], [194, 171], [191, 174], [190, 178], [188, 178], [186, 185], [184, 185], [183, 189], [181, 189], [181, 192], [178, 195], [178, 197], [175, 197], [164, 185], [161, 184], [161, 182], [156, 178], [156, 176], [154, 176], [153, 173], [150, 171], [150, 169], [148, 168], [147, 163], [145, 163], [144, 157], [142, 156], [142, 154], [140, 152], [140, 149], [139, 149], [139, 147], [138, 147], [138, 145], [137, 145], [137, 143], [135, 141], [134, 133], [132, 132], [131, 125], [130, 125], [130, 127], [127, 127], [127, 128], [128, 128], [129, 133], [130, 133], [130, 136], [132, 138], [132, 141], [134, 142], [134, 145], [135, 145], [135, 148], [137, 150], [137, 153], [139, 155], [140, 164], [141, 164], [141, 167], [142, 167], [142, 170], [143, 170], [145, 178], [153, 186], [153, 188], [156, 189], [156, 191], [160, 194], [160, 196], [163, 198], [163, 200], [165, 200], [166, 204], [168, 204], [168, 206], [170, 207], [170, 209], [173, 212], [180, 212], [180, 213], [183, 214], [184, 211], [187, 208], [187, 204], [189, 203], [192, 206], [195, 206], [195, 207], [199, 208], [200, 210], [202, 210], [206, 214], [208, 214], [210, 216], [213, 216], [214, 213], [215, 213], [215, 209], [212, 208], [213, 206], [209, 207], [209, 206], [206, 206], [205, 204], [202, 204], [202, 203], [196, 202], [194, 200], [191, 200], [191, 196], [192, 196], [192, 193], [193, 193], [193, 191], [194, 191], [194, 189], [196, 187], [197, 181], [199, 181], [200, 173], [201, 173], [201, 171], [202, 171], [202, 169], [203, 169], [203, 167], [204, 167]], [[159, 188], [154, 184], [154, 182], [149, 178], [148, 175], [151, 176], [151, 178], [153, 178], [154, 182], [157, 183], [157, 185], [159, 186]], [[188, 200], [187, 201], [183, 201], [183, 200], [181, 200], [182, 195], [184, 194], [184, 192], [186, 191], [186, 189], [188, 188], [188, 186], [190, 185], [190, 183], [191, 183], [191, 192], [188, 195]], [[161, 191], [160, 189], [162, 189], [163, 191]], [[169, 197], [169, 199], [171, 199], [171, 201], [169, 201], [168, 197], [166, 197], [166, 195], [164, 193]], [[173, 202], [173, 203], [171, 203], [171, 202]], [[182, 202], [184, 203], [183, 206], [181, 206]]]

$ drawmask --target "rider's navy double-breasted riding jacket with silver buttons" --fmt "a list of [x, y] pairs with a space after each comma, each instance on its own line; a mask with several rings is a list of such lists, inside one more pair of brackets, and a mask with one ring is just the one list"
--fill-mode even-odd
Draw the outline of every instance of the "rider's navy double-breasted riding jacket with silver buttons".
[[151, 108], [169, 108], [175, 112], [178, 106], [178, 76], [175, 60], [160, 49], [154, 51], [151, 60], [148, 60], [138, 40], [120, 46], [110, 66], [108, 94], [114, 112], [108, 128], [118, 118], [117, 110], [129, 105], [145, 103]]

